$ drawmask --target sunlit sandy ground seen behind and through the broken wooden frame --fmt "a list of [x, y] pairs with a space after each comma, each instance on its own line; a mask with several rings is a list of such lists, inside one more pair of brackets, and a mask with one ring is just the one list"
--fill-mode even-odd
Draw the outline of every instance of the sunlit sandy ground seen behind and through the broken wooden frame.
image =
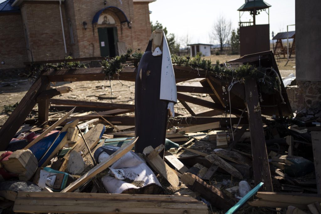
[[[205, 57], [206, 59], [211, 59], [212, 62], [215, 62], [217, 59], [220, 62], [225, 62], [228, 60], [236, 59], [239, 55], [219, 55], [219, 56], [210, 56]], [[295, 75], [295, 68], [291, 66], [295, 65], [295, 61], [290, 61], [286, 67], [283, 65], [286, 63], [286, 59], [280, 59], [277, 61], [279, 70], [282, 77], [288, 76], [290, 73]], [[283, 66], [283, 67], [282, 67]], [[186, 82], [178, 83], [179, 85], [188, 85], [188, 86], [202, 86], [199, 81], [201, 79], [194, 79]], [[16, 81], [10, 83], [8, 86], [0, 87], [0, 126], [4, 124], [8, 118], [8, 114], [4, 113], [5, 105], [14, 105], [19, 102], [25, 93], [28, 91], [32, 84], [32, 80], [27, 79], [3, 79], [0, 80], [0, 86], [4, 82]], [[122, 103], [122, 104], [134, 104], [134, 82], [130, 81], [82, 81], [82, 82], [60, 82], [56, 85], [51, 83], [51, 87], [59, 86], [69, 86], [73, 89], [72, 92], [56, 96], [57, 99], [74, 99], [74, 100], [83, 100], [83, 101], [98, 101], [106, 103]], [[110, 87], [111, 86], [111, 87]], [[189, 94], [189, 93], [187, 93]], [[101, 98], [99, 99], [99, 95]], [[193, 97], [198, 97], [208, 101], [212, 99], [206, 94], [190, 94]], [[112, 97], [113, 99], [110, 99]], [[103, 99], [102, 99], [103, 98]], [[210, 110], [206, 107], [200, 107], [194, 104], [189, 104], [193, 111], [201, 113], [207, 110]], [[189, 114], [185, 108], [178, 103], [175, 105], [176, 111], [178, 113]], [[37, 109], [37, 105], [34, 108]], [[128, 114], [128, 113], [127, 113]], [[133, 114], [133, 113], [131, 113]], [[222, 115], [225, 116], [225, 115]]]

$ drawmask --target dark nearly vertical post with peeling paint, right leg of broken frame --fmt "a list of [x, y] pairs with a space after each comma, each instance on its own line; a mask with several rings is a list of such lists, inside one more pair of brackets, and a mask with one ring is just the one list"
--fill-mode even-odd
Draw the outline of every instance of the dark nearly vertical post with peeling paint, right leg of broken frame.
[[273, 192], [263, 131], [261, 107], [256, 80], [254, 78], [248, 79], [245, 82], [245, 98], [251, 134], [254, 181], [256, 185], [263, 182], [265, 191]]

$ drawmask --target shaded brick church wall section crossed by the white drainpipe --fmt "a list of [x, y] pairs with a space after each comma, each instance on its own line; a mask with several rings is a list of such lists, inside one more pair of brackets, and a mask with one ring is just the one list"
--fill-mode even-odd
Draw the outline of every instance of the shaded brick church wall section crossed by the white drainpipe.
[[[67, 55], [70, 50], [68, 24], [62, 5]], [[63, 33], [60, 20], [59, 2], [23, 2], [21, 6], [23, 25], [27, 28], [30, 61], [63, 59], [65, 54]]]

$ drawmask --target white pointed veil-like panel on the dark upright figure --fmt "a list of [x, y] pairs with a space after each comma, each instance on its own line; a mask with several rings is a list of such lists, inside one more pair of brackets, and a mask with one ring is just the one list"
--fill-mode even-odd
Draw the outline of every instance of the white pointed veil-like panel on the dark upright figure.
[[160, 99], [177, 103], [177, 90], [174, 68], [170, 57], [169, 47], [163, 31], [163, 56], [160, 77]]

